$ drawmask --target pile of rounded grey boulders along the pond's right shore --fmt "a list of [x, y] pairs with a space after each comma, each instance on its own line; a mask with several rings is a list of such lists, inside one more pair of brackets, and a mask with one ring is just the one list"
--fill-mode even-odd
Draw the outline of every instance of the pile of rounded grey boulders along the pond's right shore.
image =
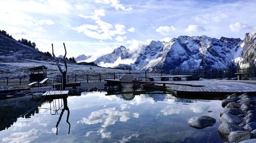
[[[256, 139], [256, 97], [244, 93], [232, 94], [222, 100], [219, 134], [227, 142], [254, 142]], [[253, 141], [254, 140], [254, 141]]]

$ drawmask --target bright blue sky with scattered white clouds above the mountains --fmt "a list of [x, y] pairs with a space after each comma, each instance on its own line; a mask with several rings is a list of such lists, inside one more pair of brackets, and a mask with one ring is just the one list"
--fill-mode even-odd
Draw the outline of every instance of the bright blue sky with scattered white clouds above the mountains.
[[0, 0], [0, 30], [40, 51], [67, 57], [134, 49], [182, 35], [244, 39], [256, 27], [256, 1]]

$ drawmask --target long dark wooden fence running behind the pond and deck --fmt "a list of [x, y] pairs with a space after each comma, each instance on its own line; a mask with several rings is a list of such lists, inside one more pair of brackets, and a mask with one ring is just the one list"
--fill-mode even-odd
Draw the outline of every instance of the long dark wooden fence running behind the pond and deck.
[[[147, 72], [147, 71], [125, 71], [125, 72], [109, 72], [109, 73], [96, 73], [96, 74], [82, 74], [82, 75], [67, 75], [67, 82], [104, 82], [104, 79], [117, 79], [124, 74], [131, 74], [134, 78], [144, 80], [146, 77], [167, 76], [167, 75], [193, 75], [204, 79], [223, 79], [237, 77], [235, 73], [244, 73], [242, 76], [245, 78], [256, 77], [256, 68], [238, 68], [238, 69], [218, 69], [218, 70], [180, 70], [170, 72]], [[51, 77], [50, 77], [51, 78]], [[155, 80], [160, 80], [156, 78]], [[49, 82], [52, 82], [51, 79]], [[20, 77], [4, 77], [0, 78], [0, 85], [13, 85], [13, 84], [27, 84], [29, 78]]]

